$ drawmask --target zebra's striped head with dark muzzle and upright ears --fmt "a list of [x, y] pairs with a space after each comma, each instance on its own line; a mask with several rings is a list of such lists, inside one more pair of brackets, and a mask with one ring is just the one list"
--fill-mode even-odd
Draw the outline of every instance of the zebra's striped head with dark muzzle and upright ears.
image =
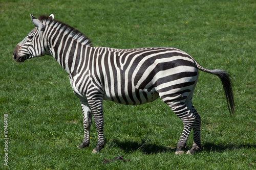
[[[46, 29], [46, 23], [41, 22], [39, 19], [35, 18], [30, 14], [31, 20], [35, 26], [29, 34], [20, 41], [13, 53], [13, 59], [17, 62], [24, 62], [27, 59], [33, 57], [41, 57], [47, 54], [47, 44], [43, 38], [44, 31]], [[54, 18], [53, 14], [50, 15], [52, 19]]]

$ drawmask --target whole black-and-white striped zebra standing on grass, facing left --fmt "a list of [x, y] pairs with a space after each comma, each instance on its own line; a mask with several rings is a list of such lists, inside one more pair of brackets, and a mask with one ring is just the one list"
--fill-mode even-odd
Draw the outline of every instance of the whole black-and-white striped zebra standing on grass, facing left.
[[49, 17], [31, 15], [35, 28], [17, 44], [13, 58], [17, 62], [51, 55], [69, 75], [75, 95], [81, 101], [84, 136], [78, 148], [88, 147], [92, 115], [98, 132], [93, 153], [104, 148], [102, 101], [140, 105], [159, 96], [182, 120], [184, 130], [176, 154], [183, 153], [193, 128], [193, 147], [201, 149], [201, 118], [191, 103], [198, 80], [198, 69], [217, 75], [222, 82], [230, 114], [234, 101], [230, 77], [224, 70], [200, 66], [187, 53], [173, 47], [114, 49], [93, 47], [88, 37]]

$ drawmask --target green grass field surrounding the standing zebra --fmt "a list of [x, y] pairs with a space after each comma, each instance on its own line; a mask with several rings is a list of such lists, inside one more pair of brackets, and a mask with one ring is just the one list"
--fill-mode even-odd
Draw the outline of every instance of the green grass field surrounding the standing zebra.
[[[254, 0], [1, 0], [0, 169], [255, 169], [255, 11]], [[12, 58], [34, 28], [30, 13], [53, 13], [94, 46], [173, 46], [205, 68], [225, 69], [233, 77], [236, 113], [228, 112], [220, 80], [200, 71], [193, 103], [202, 118], [201, 152], [175, 155], [183, 125], [160, 99], [140, 106], [104, 102], [105, 148], [91, 154], [97, 143], [93, 123], [90, 147], [79, 150], [81, 106], [65, 70], [50, 56], [24, 63]], [[130, 161], [102, 163], [118, 155]]]

